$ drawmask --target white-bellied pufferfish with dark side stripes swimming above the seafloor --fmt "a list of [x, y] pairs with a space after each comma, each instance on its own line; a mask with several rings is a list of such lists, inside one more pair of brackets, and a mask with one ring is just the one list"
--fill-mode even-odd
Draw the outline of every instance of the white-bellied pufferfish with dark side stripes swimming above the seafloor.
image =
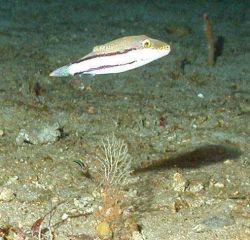
[[57, 68], [50, 76], [110, 74], [141, 67], [168, 55], [170, 45], [145, 35], [118, 38], [95, 46], [83, 58]]

